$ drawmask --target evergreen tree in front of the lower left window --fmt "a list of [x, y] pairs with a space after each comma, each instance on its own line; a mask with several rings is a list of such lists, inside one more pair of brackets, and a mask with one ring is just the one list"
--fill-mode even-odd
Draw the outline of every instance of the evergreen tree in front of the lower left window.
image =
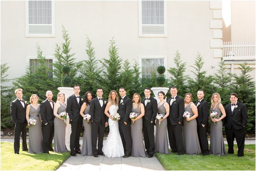
[[46, 59], [42, 56], [42, 50], [37, 44], [37, 60], [38, 67], [34, 68], [34, 72], [30, 70], [29, 66], [26, 67], [25, 75], [17, 78], [13, 85], [16, 88], [22, 88], [23, 90], [23, 99], [29, 102], [29, 98], [32, 94], [37, 94], [39, 97], [39, 102], [42, 102], [46, 99], [45, 93], [47, 90], [53, 92], [53, 99], [57, 97], [57, 85], [53, 81], [53, 78], [50, 78], [49, 75], [52, 73], [52, 69], [46, 65]]

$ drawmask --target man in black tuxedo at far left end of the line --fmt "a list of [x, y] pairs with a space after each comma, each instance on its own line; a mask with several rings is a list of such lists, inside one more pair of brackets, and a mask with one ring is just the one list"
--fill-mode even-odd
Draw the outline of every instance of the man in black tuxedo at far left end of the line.
[[22, 100], [22, 89], [15, 90], [16, 99], [11, 102], [11, 118], [15, 124], [14, 129], [14, 153], [20, 154], [20, 136], [22, 139], [22, 151], [28, 151], [26, 143], [27, 121], [26, 121], [26, 107], [28, 103]]

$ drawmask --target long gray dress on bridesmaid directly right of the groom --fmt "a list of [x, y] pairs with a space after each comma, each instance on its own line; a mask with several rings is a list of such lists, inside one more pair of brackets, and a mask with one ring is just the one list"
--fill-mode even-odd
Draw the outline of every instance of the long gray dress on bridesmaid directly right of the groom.
[[[137, 117], [141, 114], [140, 108], [133, 109], [132, 112], [137, 113]], [[132, 122], [132, 121], [131, 121]], [[132, 137], [132, 156], [134, 157], [146, 157], [145, 147], [142, 137], [142, 118], [131, 123], [131, 137]]]

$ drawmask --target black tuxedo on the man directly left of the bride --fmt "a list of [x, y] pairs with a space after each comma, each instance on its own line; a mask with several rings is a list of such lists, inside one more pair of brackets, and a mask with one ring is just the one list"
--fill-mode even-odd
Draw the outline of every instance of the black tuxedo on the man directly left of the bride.
[[[103, 138], [105, 132], [105, 123], [108, 122], [107, 115], [104, 114], [107, 101], [102, 98], [103, 105], [101, 107], [98, 97], [90, 102], [90, 115], [92, 121], [92, 150], [93, 154], [102, 153]], [[97, 138], [98, 150], [97, 150]]]

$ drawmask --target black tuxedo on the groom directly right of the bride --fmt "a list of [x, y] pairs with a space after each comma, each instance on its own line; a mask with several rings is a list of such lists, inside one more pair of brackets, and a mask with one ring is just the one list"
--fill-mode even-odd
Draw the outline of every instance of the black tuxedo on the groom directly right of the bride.
[[[122, 98], [121, 98], [122, 99]], [[127, 97], [124, 97], [123, 102], [121, 103], [121, 99], [118, 104], [118, 114], [121, 116], [119, 120], [119, 133], [121, 135], [124, 154], [131, 155], [132, 153], [132, 137], [131, 137], [131, 119], [130, 113], [132, 111], [132, 100]], [[124, 122], [127, 124], [125, 125]]]

